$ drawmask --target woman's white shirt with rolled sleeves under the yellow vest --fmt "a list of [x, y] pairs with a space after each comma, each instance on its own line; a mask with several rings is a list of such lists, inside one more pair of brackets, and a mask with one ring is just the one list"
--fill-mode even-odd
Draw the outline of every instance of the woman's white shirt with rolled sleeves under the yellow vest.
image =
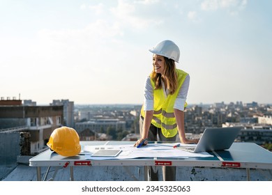
[[[179, 88], [179, 93], [176, 97], [176, 101], [174, 103], [174, 109], [179, 109], [181, 111], [184, 110], [184, 105], [186, 103], [188, 88], [190, 85], [190, 75], [187, 75], [181, 88]], [[168, 89], [165, 90], [165, 84], [162, 81], [163, 93], [165, 97], [169, 94]], [[153, 87], [151, 85], [150, 76], [146, 78], [146, 84], [144, 86], [144, 111], [150, 111], [154, 109], [154, 95], [153, 95]]]

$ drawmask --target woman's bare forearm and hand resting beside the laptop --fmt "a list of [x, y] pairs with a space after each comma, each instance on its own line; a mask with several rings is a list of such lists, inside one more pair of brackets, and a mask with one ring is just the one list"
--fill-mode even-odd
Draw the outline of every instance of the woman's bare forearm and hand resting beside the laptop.
[[174, 109], [174, 116], [176, 117], [176, 125], [178, 125], [179, 139], [181, 143], [197, 143], [197, 139], [187, 139], [184, 127], [184, 112], [179, 109]]

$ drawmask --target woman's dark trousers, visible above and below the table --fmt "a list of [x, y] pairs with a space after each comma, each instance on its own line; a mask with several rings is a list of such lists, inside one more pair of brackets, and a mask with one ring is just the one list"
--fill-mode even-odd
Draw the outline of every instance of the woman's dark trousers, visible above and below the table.
[[[144, 118], [139, 117], [139, 133], [142, 134], [142, 127], [144, 123]], [[176, 141], [176, 136], [165, 137], [160, 130], [160, 128], [155, 127], [151, 124], [149, 128], [149, 134], [147, 139], [149, 141]], [[158, 181], [158, 166], [147, 166], [147, 179], [149, 181]], [[163, 180], [164, 181], [174, 181], [176, 180], [176, 166], [163, 166]]]

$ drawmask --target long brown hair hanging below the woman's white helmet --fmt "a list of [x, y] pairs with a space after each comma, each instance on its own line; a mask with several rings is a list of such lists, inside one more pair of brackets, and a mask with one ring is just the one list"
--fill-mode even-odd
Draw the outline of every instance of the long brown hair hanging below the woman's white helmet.
[[[176, 76], [176, 63], [172, 59], [165, 58], [165, 71], [163, 72], [163, 75], [166, 79], [166, 86], [169, 90], [169, 94], [174, 94], [176, 91], [176, 88], [178, 86], [178, 79]], [[153, 72], [151, 73], [151, 79], [153, 79], [155, 83], [155, 89], [162, 88], [162, 82], [161, 82], [161, 74], [158, 74], [155, 72], [155, 69], [153, 67]]]

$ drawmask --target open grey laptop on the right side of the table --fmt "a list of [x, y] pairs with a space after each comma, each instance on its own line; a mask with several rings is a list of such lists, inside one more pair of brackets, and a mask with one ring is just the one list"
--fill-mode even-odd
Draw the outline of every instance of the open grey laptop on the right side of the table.
[[197, 145], [179, 146], [179, 149], [186, 150], [190, 153], [227, 150], [232, 146], [232, 143], [234, 143], [241, 128], [242, 127], [206, 128]]

